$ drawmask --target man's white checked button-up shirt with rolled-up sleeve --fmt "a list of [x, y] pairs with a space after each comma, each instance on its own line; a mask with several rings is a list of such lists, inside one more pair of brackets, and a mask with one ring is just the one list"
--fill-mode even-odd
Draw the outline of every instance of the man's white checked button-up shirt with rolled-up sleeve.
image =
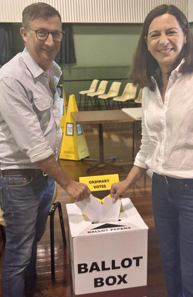
[[0, 69], [0, 168], [38, 168], [34, 162], [58, 158], [63, 99], [57, 84], [61, 68], [53, 62], [50, 80], [25, 48]]

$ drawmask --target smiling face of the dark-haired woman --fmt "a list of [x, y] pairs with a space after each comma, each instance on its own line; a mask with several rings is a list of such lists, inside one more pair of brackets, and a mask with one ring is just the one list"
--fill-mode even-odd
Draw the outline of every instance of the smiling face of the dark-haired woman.
[[145, 41], [160, 68], [170, 71], [186, 43], [186, 31], [182, 31], [174, 15], [166, 13], [154, 18]]

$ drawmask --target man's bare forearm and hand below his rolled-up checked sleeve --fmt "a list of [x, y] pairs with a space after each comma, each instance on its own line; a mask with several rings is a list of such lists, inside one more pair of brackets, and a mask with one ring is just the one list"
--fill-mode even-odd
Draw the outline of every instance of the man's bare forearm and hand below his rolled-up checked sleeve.
[[35, 162], [35, 164], [53, 178], [69, 195], [72, 195], [75, 201], [83, 200], [90, 195], [91, 191], [87, 185], [69, 178], [53, 155]]

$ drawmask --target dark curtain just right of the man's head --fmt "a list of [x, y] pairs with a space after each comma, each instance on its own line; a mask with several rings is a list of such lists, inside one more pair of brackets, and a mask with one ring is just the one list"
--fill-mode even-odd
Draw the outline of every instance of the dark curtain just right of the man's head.
[[61, 48], [55, 61], [58, 64], [76, 63], [72, 25], [67, 23], [62, 24], [62, 31], [66, 34], [61, 42]]

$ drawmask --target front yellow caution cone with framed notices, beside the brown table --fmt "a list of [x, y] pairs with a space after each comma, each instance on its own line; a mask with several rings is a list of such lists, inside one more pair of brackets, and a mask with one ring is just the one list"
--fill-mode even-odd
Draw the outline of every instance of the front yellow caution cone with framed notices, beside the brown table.
[[64, 124], [64, 134], [59, 158], [80, 160], [89, 156], [88, 146], [82, 125], [76, 124], [71, 112], [78, 111], [75, 95], [69, 96], [67, 115]]

